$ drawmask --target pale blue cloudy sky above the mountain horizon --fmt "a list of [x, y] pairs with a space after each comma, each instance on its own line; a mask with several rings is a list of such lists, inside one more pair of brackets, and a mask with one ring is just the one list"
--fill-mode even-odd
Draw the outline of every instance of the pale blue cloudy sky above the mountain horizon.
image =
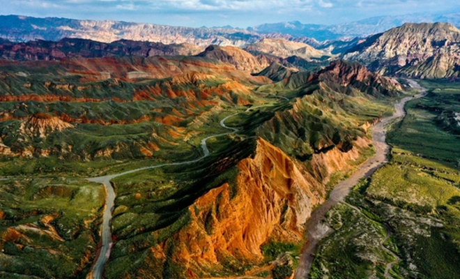
[[337, 24], [379, 15], [460, 12], [459, 0], [0, 0], [1, 15], [123, 20], [186, 27]]

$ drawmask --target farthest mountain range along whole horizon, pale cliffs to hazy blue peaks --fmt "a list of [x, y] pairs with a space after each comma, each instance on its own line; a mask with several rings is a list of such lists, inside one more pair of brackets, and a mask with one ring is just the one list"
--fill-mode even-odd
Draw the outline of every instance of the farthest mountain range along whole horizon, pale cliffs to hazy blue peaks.
[[460, 13], [371, 17], [366, 20], [335, 25], [280, 22], [261, 24], [247, 29], [236, 29], [230, 26], [222, 28], [171, 27], [111, 20], [70, 20], [57, 17], [0, 15], [0, 38], [19, 42], [37, 39], [58, 41], [62, 38], [84, 38], [103, 43], [111, 43], [116, 40], [144, 40], [164, 44], [190, 43], [201, 47], [208, 45], [245, 47], [262, 38], [282, 37], [321, 47], [326, 43], [319, 43], [319, 41], [367, 37], [399, 27], [406, 22], [448, 22], [460, 27]]

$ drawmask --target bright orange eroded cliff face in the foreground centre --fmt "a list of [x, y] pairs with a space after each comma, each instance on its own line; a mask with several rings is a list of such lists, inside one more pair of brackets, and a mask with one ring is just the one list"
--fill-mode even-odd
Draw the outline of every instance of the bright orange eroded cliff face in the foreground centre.
[[180, 246], [173, 260], [188, 274], [222, 269], [229, 258], [260, 263], [270, 239], [300, 241], [305, 220], [324, 201], [323, 184], [265, 140], [238, 169], [236, 186], [224, 183], [199, 197], [190, 223], [173, 236]]

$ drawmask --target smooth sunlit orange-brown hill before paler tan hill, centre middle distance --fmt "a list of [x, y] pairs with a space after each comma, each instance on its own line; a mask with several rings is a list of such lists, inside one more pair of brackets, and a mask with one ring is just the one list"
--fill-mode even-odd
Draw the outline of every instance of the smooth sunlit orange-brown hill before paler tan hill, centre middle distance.
[[220, 47], [218, 45], [210, 45], [206, 47], [204, 52], [197, 54], [199, 57], [206, 57], [216, 59], [224, 63], [229, 63], [235, 66], [236, 70], [243, 70], [247, 72], [259, 72], [268, 63], [264, 59], [259, 59], [245, 50], [238, 47]]

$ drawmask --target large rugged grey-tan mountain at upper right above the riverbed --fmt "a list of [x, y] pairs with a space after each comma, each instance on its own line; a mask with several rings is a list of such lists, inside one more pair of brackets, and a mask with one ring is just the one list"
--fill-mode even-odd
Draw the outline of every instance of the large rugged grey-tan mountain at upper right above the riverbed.
[[451, 24], [404, 24], [372, 36], [346, 52], [371, 70], [391, 75], [443, 78], [460, 74], [460, 30]]

